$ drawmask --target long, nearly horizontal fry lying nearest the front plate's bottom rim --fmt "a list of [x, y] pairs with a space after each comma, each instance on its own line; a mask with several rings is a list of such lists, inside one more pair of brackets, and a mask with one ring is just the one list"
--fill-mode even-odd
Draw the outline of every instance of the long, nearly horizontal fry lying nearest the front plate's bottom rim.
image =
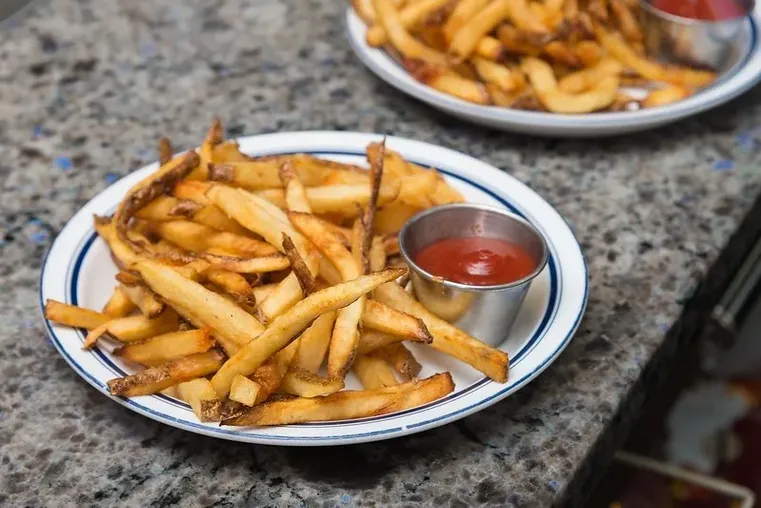
[[[251, 408], [240, 416], [224, 420], [222, 424], [234, 426], [288, 425], [363, 418], [381, 414], [387, 408], [404, 407], [408, 409], [412, 407], [411, 404], [416, 399], [425, 400], [422, 396], [415, 396], [415, 393], [426, 383], [437, 380], [440, 376], [447, 377], [449, 374], [436, 374], [424, 380], [413, 380], [375, 390], [343, 391], [325, 397], [296, 397], [267, 402]], [[453, 387], [451, 378], [448, 386]], [[426, 402], [429, 401], [426, 400]]]

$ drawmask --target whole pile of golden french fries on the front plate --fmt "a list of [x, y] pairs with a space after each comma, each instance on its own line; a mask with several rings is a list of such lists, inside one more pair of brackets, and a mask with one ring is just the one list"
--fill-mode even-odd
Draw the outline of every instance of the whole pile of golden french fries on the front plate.
[[[405, 289], [397, 232], [422, 209], [462, 201], [435, 170], [367, 148], [370, 171], [309, 155], [249, 157], [214, 123], [95, 229], [119, 268], [102, 311], [49, 300], [46, 317], [88, 330], [85, 349], [135, 374], [113, 395], [164, 393], [201, 421], [282, 425], [400, 411], [454, 390], [418, 379], [404, 342], [497, 382], [503, 351], [436, 317]], [[142, 366], [143, 370], [138, 370]], [[363, 390], [346, 391], [353, 372]]]

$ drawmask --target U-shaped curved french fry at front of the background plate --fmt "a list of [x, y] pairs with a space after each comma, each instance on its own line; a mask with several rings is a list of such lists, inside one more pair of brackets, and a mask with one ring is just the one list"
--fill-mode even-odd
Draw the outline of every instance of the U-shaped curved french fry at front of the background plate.
[[552, 68], [538, 58], [523, 59], [521, 68], [526, 73], [539, 100], [555, 113], [578, 114], [598, 111], [616, 100], [618, 78], [606, 76], [596, 86], [580, 94], [567, 94], [558, 89]]

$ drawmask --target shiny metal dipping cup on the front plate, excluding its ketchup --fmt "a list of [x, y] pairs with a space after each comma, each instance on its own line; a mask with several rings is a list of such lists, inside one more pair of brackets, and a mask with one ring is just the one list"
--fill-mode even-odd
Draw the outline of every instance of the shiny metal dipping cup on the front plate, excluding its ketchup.
[[[432, 243], [473, 236], [517, 244], [534, 259], [534, 271], [508, 284], [474, 286], [444, 280], [415, 264], [418, 253]], [[411, 218], [399, 232], [399, 250], [418, 301], [492, 346], [505, 341], [531, 282], [547, 264], [547, 243], [531, 224], [506, 210], [467, 203], [430, 208]]]

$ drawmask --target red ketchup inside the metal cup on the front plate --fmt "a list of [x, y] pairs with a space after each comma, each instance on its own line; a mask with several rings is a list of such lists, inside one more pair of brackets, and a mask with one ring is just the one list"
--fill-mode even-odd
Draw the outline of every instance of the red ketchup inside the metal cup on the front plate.
[[460, 284], [494, 286], [520, 280], [536, 268], [522, 247], [498, 238], [447, 238], [418, 253], [415, 263], [426, 272]]

